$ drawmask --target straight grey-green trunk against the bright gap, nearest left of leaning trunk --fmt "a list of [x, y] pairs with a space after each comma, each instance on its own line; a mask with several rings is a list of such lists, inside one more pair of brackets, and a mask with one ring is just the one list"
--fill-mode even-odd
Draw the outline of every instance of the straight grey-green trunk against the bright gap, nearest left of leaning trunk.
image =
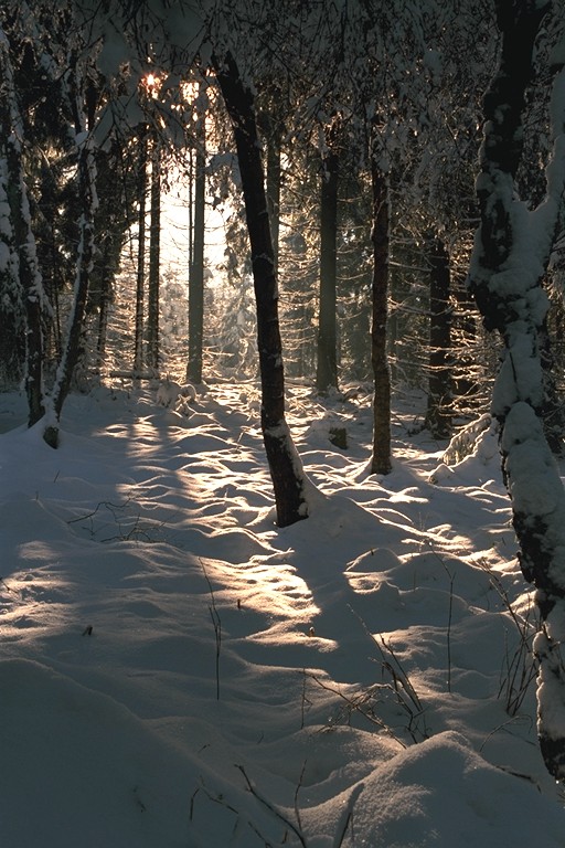
[[205, 118], [202, 115], [196, 127], [193, 248], [189, 276], [189, 361], [186, 364], [186, 379], [196, 384], [202, 382], [204, 341], [205, 144]]

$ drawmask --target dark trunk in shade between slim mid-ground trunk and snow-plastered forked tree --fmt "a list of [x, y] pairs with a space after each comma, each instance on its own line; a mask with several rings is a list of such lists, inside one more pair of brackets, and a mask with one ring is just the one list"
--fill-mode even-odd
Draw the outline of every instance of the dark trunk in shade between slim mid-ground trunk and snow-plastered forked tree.
[[449, 254], [440, 239], [428, 241], [429, 378], [425, 426], [434, 438], [451, 435], [451, 306]]

